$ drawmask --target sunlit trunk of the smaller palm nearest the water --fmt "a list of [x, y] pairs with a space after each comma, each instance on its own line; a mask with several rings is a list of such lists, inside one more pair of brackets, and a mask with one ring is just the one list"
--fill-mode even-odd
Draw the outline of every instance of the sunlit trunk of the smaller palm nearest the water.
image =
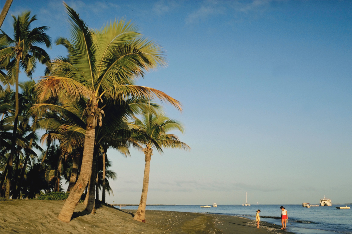
[[153, 155], [153, 150], [149, 147], [143, 149], [145, 154], [145, 168], [144, 168], [144, 178], [143, 178], [143, 189], [142, 195], [140, 196], [140, 202], [138, 206], [138, 210], [136, 215], [134, 215], [133, 219], [139, 222], [145, 222], [145, 206], [147, 203], [147, 193], [148, 193], [148, 186], [149, 186], [149, 170], [150, 170], [150, 160], [151, 156]]

